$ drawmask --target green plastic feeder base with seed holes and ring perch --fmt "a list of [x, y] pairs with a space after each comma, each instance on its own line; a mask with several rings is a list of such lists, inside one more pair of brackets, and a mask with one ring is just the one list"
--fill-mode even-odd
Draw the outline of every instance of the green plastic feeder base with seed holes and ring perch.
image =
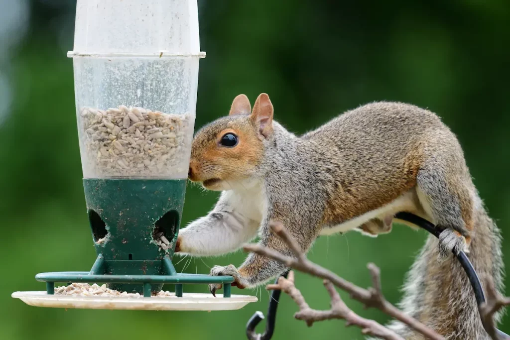
[[230, 297], [232, 276], [178, 274], [173, 267], [186, 180], [84, 179], [83, 186], [97, 259], [89, 272], [37, 274], [47, 294], [55, 282], [101, 282], [148, 297], [173, 283], [182, 297], [183, 284], [221, 283]]

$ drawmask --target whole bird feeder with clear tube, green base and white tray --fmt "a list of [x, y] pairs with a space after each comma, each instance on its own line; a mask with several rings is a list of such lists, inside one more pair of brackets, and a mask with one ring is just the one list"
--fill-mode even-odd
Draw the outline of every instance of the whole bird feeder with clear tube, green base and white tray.
[[[154, 310], [238, 309], [257, 301], [231, 295], [232, 276], [179, 274], [172, 264], [205, 57], [196, 0], [78, 0], [68, 57], [97, 258], [86, 272], [38, 274], [45, 292], [13, 297], [34, 306]], [[56, 290], [56, 282], [68, 285]], [[60, 294], [81, 282], [105, 284]], [[162, 294], [165, 283], [174, 292]], [[209, 283], [223, 284], [223, 296], [183, 292], [185, 284]], [[110, 290], [119, 295], [104, 293]]]

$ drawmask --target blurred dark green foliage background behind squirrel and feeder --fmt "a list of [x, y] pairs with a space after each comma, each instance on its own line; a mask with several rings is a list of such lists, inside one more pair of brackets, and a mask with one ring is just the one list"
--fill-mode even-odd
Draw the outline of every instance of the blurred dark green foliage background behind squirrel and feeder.
[[[44, 290], [36, 273], [90, 269], [95, 252], [82, 188], [72, 61], [66, 58], [75, 1], [0, 0], [0, 8], [0, 338], [245, 338], [247, 319], [267, 308], [264, 288], [242, 291], [258, 294], [257, 303], [211, 313], [65, 311], [10, 297], [18, 290]], [[267, 92], [275, 119], [296, 133], [374, 100], [429, 108], [460, 139], [475, 185], [502, 230], [503, 252], [510, 254], [507, 0], [210, 0], [199, 1], [199, 18], [207, 58], [200, 61], [196, 128], [225, 115], [239, 93], [253, 103]], [[188, 186], [184, 224], [205, 215], [216, 198]], [[425, 236], [403, 226], [376, 239], [352, 232], [319, 239], [310, 258], [362, 286], [370, 284], [366, 264], [373, 261], [382, 270], [384, 293], [397, 302]], [[239, 265], [244, 256], [193, 258], [176, 267], [208, 273], [213, 265]], [[507, 257], [505, 263], [510, 265]], [[328, 307], [320, 280], [298, 273], [297, 286], [312, 307]], [[387, 321], [346, 301], [363, 316]], [[274, 338], [363, 338], [342, 321], [308, 328], [292, 318], [295, 311], [283, 296]], [[501, 329], [510, 332], [510, 317]]]

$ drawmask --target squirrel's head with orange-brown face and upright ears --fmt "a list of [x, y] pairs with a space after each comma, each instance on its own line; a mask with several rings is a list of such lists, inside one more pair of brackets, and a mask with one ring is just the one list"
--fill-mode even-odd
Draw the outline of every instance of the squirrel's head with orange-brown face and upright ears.
[[232, 102], [227, 117], [202, 127], [191, 146], [188, 178], [209, 190], [233, 189], [256, 175], [264, 140], [273, 133], [273, 105], [265, 93], [253, 110], [244, 94]]

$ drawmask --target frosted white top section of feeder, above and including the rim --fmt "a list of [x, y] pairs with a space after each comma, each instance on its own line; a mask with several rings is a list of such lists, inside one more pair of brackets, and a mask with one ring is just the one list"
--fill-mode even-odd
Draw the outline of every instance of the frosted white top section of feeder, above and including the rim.
[[69, 57], [160, 55], [205, 56], [197, 0], [78, 0]]

